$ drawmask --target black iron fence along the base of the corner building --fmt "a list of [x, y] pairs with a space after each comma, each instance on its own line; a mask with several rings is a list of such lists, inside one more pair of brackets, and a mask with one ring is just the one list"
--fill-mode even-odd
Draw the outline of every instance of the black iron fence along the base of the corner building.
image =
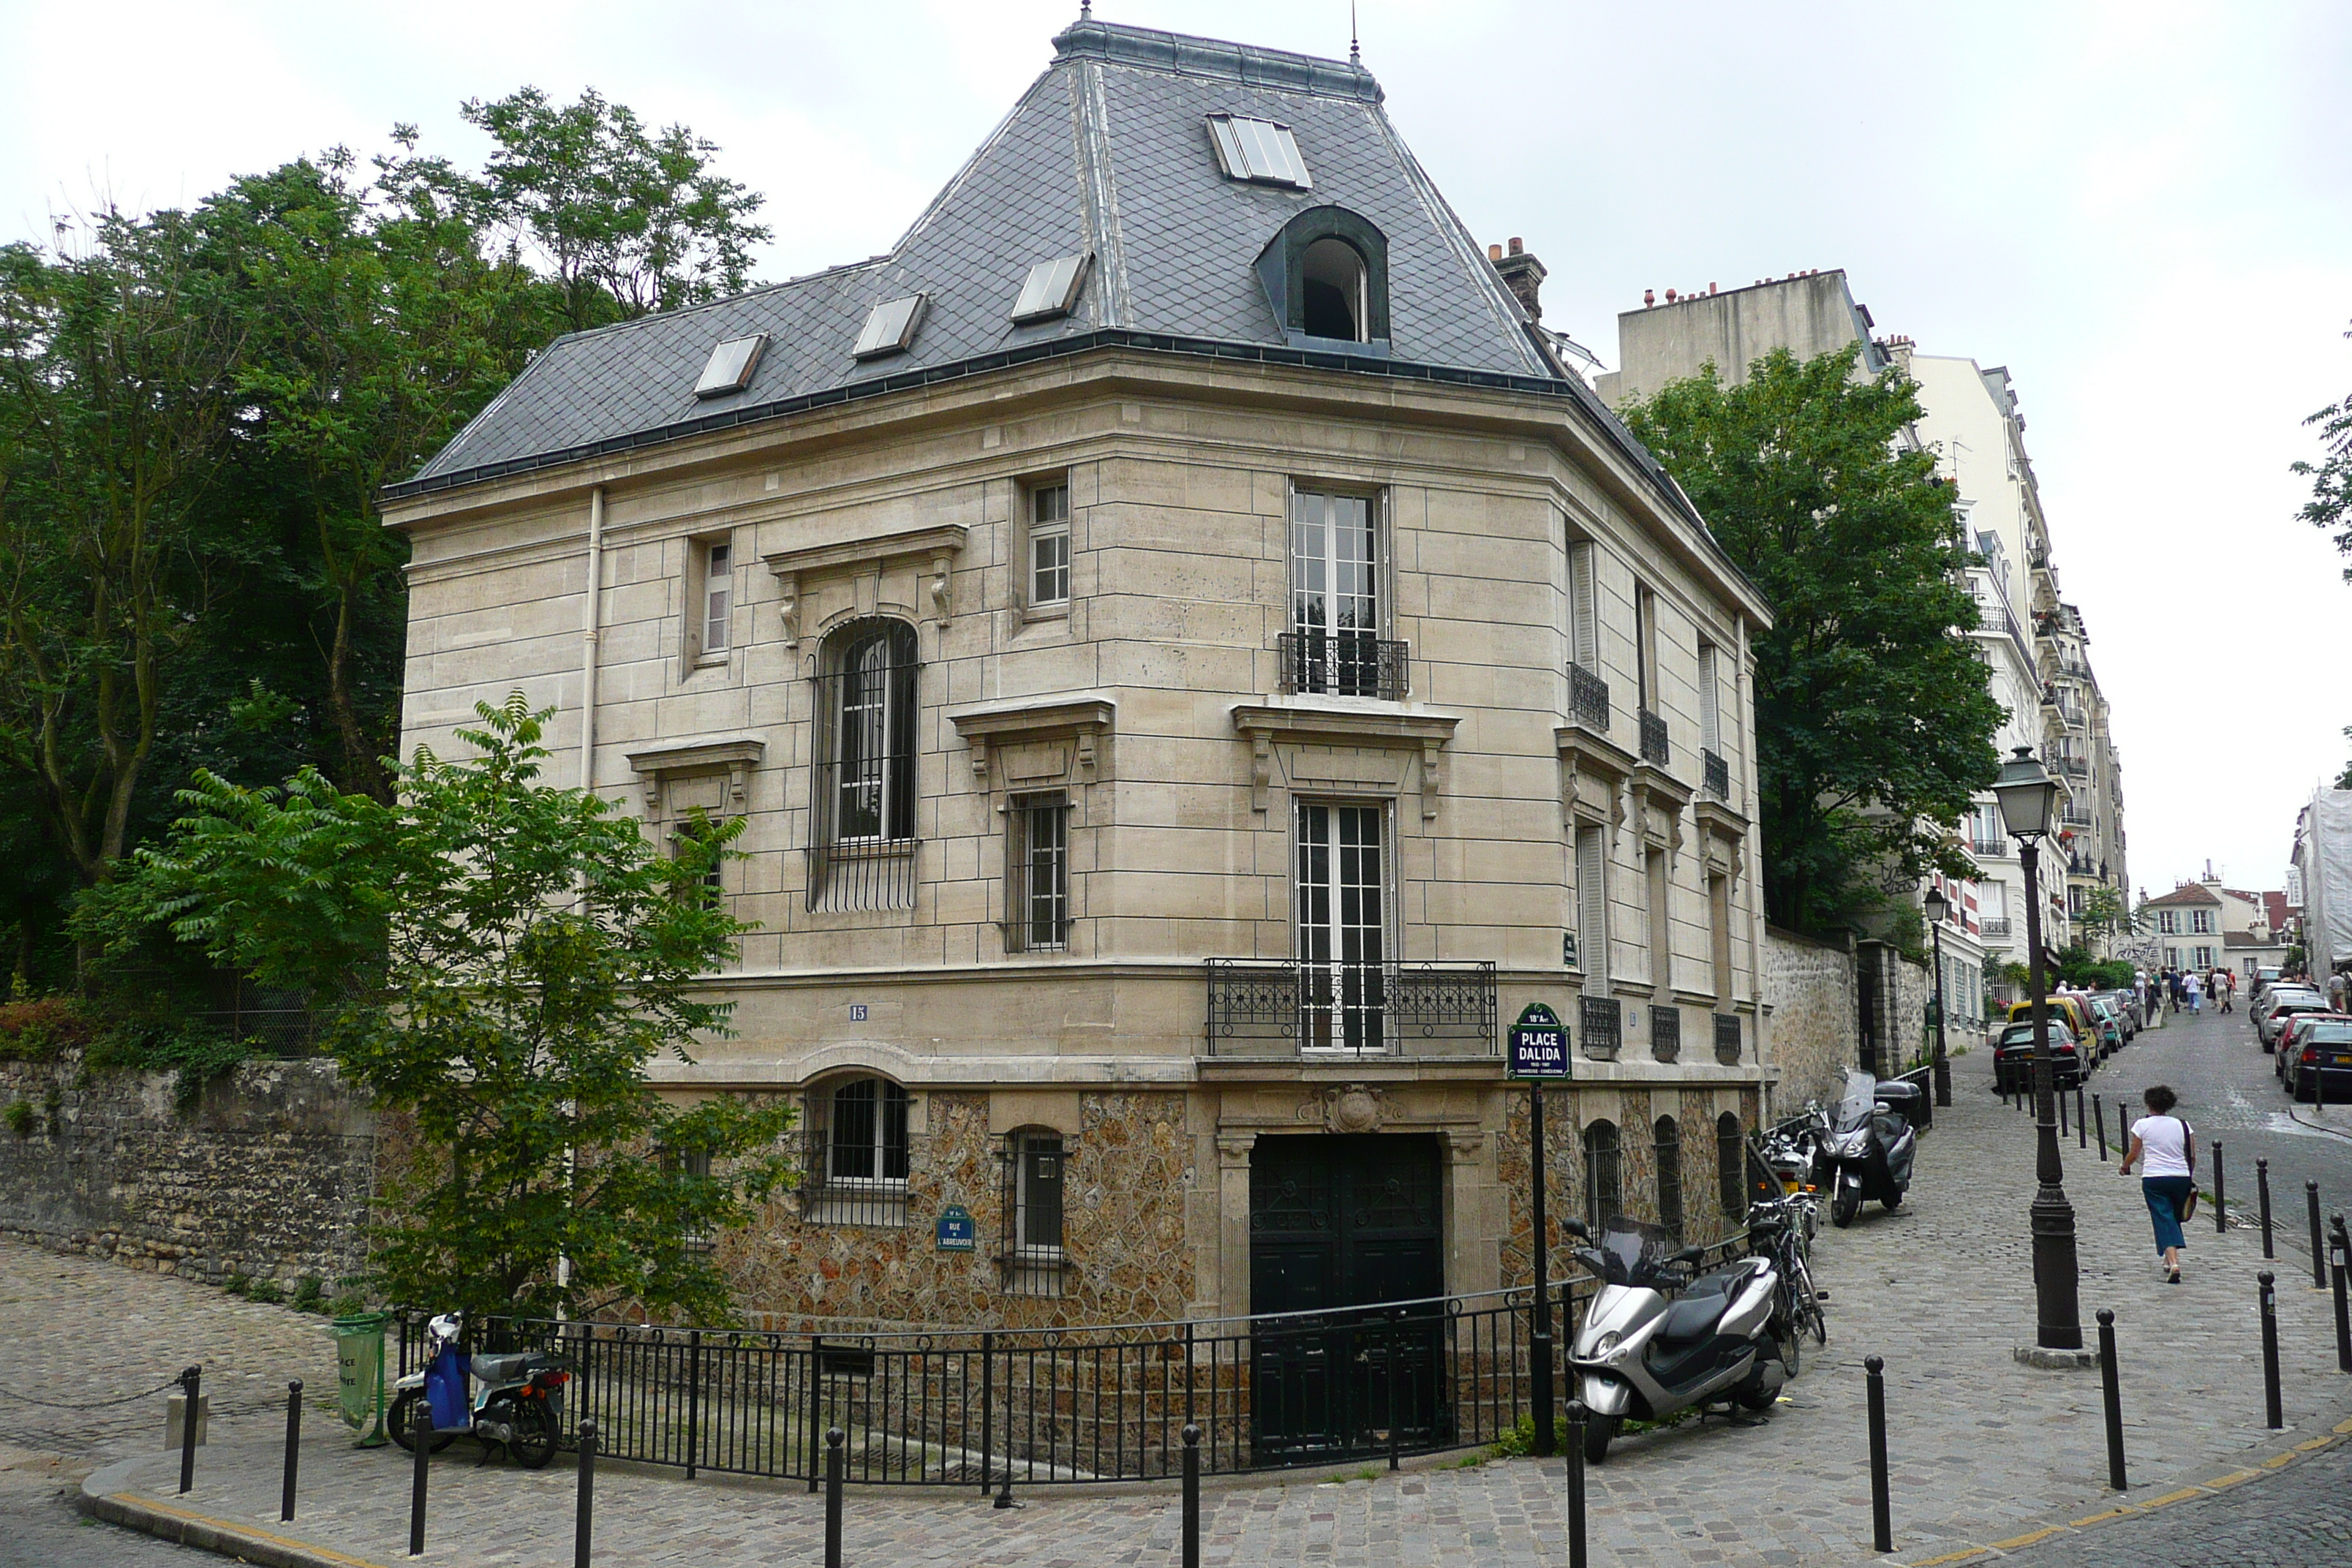
[[[1745, 1232], [1710, 1260], [1740, 1251]], [[1590, 1293], [1552, 1286], [1566, 1333]], [[861, 1335], [489, 1319], [468, 1340], [567, 1356], [562, 1439], [595, 1420], [600, 1458], [814, 1486], [823, 1434], [840, 1427], [849, 1481], [985, 1490], [1176, 1476], [1188, 1425], [1204, 1474], [1494, 1443], [1534, 1408], [1531, 1309], [1531, 1291], [1489, 1291], [1202, 1324]], [[423, 1361], [423, 1324], [397, 1316], [402, 1375]]]

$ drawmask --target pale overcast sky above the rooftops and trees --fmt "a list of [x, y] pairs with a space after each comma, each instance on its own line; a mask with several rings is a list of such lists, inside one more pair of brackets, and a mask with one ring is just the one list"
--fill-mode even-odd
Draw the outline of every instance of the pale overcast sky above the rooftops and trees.
[[[1075, 0], [0, 0], [0, 237], [200, 200], [468, 96], [581, 87], [713, 136], [764, 277], [887, 249]], [[1343, 56], [1348, 0], [1098, 16]], [[2352, 7], [1362, 0], [1364, 63], [1545, 324], [1616, 364], [1642, 289], [1846, 268], [1879, 331], [2006, 364], [2124, 752], [2131, 877], [2277, 886], [2352, 752], [2352, 588], [2286, 465], [2352, 393]]]

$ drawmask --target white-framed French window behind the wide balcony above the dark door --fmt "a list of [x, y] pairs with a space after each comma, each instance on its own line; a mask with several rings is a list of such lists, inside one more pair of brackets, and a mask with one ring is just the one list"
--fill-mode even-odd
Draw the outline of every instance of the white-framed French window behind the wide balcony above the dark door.
[[1385, 1048], [1385, 806], [1298, 802], [1298, 1044]]

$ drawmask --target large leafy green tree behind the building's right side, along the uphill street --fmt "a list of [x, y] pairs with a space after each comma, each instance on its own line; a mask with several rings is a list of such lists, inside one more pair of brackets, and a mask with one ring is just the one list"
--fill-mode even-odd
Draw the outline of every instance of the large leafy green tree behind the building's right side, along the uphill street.
[[1740, 386], [1708, 364], [1625, 409], [1773, 607], [1755, 639], [1764, 903], [1799, 931], [1931, 867], [1973, 875], [1952, 825], [1999, 766], [1952, 491], [1903, 442], [1917, 383], [1856, 381], [1853, 357], [1783, 348]]

